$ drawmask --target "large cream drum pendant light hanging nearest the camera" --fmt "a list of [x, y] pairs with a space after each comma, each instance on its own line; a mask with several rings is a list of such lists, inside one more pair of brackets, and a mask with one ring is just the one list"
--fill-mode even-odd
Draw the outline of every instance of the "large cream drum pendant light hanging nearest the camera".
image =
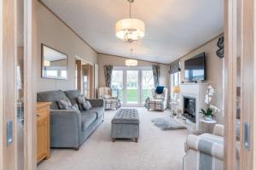
[[133, 42], [145, 36], [145, 24], [142, 20], [131, 18], [131, 3], [134, 0], [128, 0], [128, 2], [130, 3], [130, 17], [116, 22], [115, 35], [124, 42]]

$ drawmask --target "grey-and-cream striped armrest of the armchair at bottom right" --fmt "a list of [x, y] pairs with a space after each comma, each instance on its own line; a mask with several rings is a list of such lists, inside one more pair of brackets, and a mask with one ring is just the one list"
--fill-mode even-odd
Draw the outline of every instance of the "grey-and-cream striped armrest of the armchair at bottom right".
[[203, 139], [200, 136], [195, 136], [194, 134], [189, 134], [185, 150], [189, 149], [198, 150], [207, 155], [217, 157], [220, 160], [224, 159], [224, 145], [218, 144], [213, 140]]

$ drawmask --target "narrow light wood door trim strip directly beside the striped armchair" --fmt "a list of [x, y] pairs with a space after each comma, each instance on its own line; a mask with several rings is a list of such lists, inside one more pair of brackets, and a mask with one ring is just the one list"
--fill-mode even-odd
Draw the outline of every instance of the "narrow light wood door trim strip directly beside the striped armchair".
[[236, 0], [224, 1], [224, 169], [236, 169]]

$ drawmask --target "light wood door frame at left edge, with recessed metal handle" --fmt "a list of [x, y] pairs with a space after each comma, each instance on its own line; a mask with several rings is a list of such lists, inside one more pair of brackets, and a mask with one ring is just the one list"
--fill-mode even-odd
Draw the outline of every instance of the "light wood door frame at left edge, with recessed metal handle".
[[[0, 0], [0, 170], [15, 170], [17, 164], [16, 133], [16, 2]], [[36, 57], [37, 0], [24, 0], [24, 169], [37, 168], [36, 161]], [[13, 69], [12, 69], [13, 68]], [[9, 104], [8, 104], [9, 103]], [[7, 122], [13, 121], [13, 142], [7, 146]], [[2, 138], [3, 137], [3, 138]]]

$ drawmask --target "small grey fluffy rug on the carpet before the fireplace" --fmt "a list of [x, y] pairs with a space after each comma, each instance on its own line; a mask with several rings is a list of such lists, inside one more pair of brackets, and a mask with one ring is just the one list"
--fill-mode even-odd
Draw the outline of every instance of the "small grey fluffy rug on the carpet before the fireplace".
[[161, 130], [175, 130], [186, 128], [181, 122], [177, 122], [172, 117], [170, 118], [154, 118], [151, 120], [154, 126], [160, 127]]

